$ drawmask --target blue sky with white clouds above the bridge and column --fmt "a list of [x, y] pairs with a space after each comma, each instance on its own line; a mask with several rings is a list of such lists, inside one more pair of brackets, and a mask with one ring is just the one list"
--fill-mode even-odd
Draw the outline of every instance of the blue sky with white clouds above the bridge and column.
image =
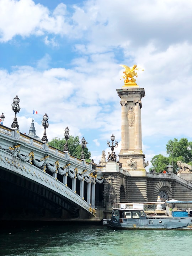
[[[84, 137], [96, 163], [112, 133], [121, 149], [124, 69], [137, 64], [145, 162], [170, 139], [192, 140], [191, 0], [0, 0], [0, 113], [20, 132]], [[33, 110], [38, 114], [33, 115]], [[149, 164], [150, 167], [150, 164]], [[148, 168], [149, 168], [148, 167]]]

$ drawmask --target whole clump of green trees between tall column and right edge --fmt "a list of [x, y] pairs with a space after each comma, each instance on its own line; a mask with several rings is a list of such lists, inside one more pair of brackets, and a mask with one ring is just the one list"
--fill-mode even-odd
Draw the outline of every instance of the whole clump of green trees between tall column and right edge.
[[161, 172], [166, 170], [166, 166], [170, 164], [173, 166], [174, 173], [176, 173], [178, 170], [177, 161], [186, 164], [192, 163], [192, 142], [189, 142], [187, 138], [169, 140], [166, 144], [166, 150], [168, 156], [159, 154], [151, 159], [152, 167], [149, 170]]

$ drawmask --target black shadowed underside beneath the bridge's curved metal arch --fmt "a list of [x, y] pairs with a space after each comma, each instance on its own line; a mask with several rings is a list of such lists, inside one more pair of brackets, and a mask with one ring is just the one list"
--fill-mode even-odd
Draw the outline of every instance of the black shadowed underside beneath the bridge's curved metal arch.
[[0, 220], [86, 221], [93, 215], [23, 176], [0, 169]]

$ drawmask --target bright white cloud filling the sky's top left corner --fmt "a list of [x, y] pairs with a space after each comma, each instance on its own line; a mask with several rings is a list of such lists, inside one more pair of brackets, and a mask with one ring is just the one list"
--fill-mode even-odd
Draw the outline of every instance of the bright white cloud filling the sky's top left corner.
[[65, 10], [66, 6], [59, 4], [52, 15], [47, 7], [32, 0], [1, 0], [0, 42], [7, 42], [16, 35], [68, 34], [71, 26], [65, 21]]

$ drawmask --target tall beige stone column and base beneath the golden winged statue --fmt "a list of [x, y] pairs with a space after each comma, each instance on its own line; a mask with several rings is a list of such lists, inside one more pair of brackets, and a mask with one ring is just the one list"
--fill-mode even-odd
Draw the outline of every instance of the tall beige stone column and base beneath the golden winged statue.
[[145, 96], [144, 88], [136, 84], [123, 86], [117, 89], [121, 98], [121, 139], [122, 148], [119, 152], [119, 162], [130, 176], [146, 176], [144, 162], [145, 155], [142, 151], [142, 126], [141, 126], [141, 99]]

